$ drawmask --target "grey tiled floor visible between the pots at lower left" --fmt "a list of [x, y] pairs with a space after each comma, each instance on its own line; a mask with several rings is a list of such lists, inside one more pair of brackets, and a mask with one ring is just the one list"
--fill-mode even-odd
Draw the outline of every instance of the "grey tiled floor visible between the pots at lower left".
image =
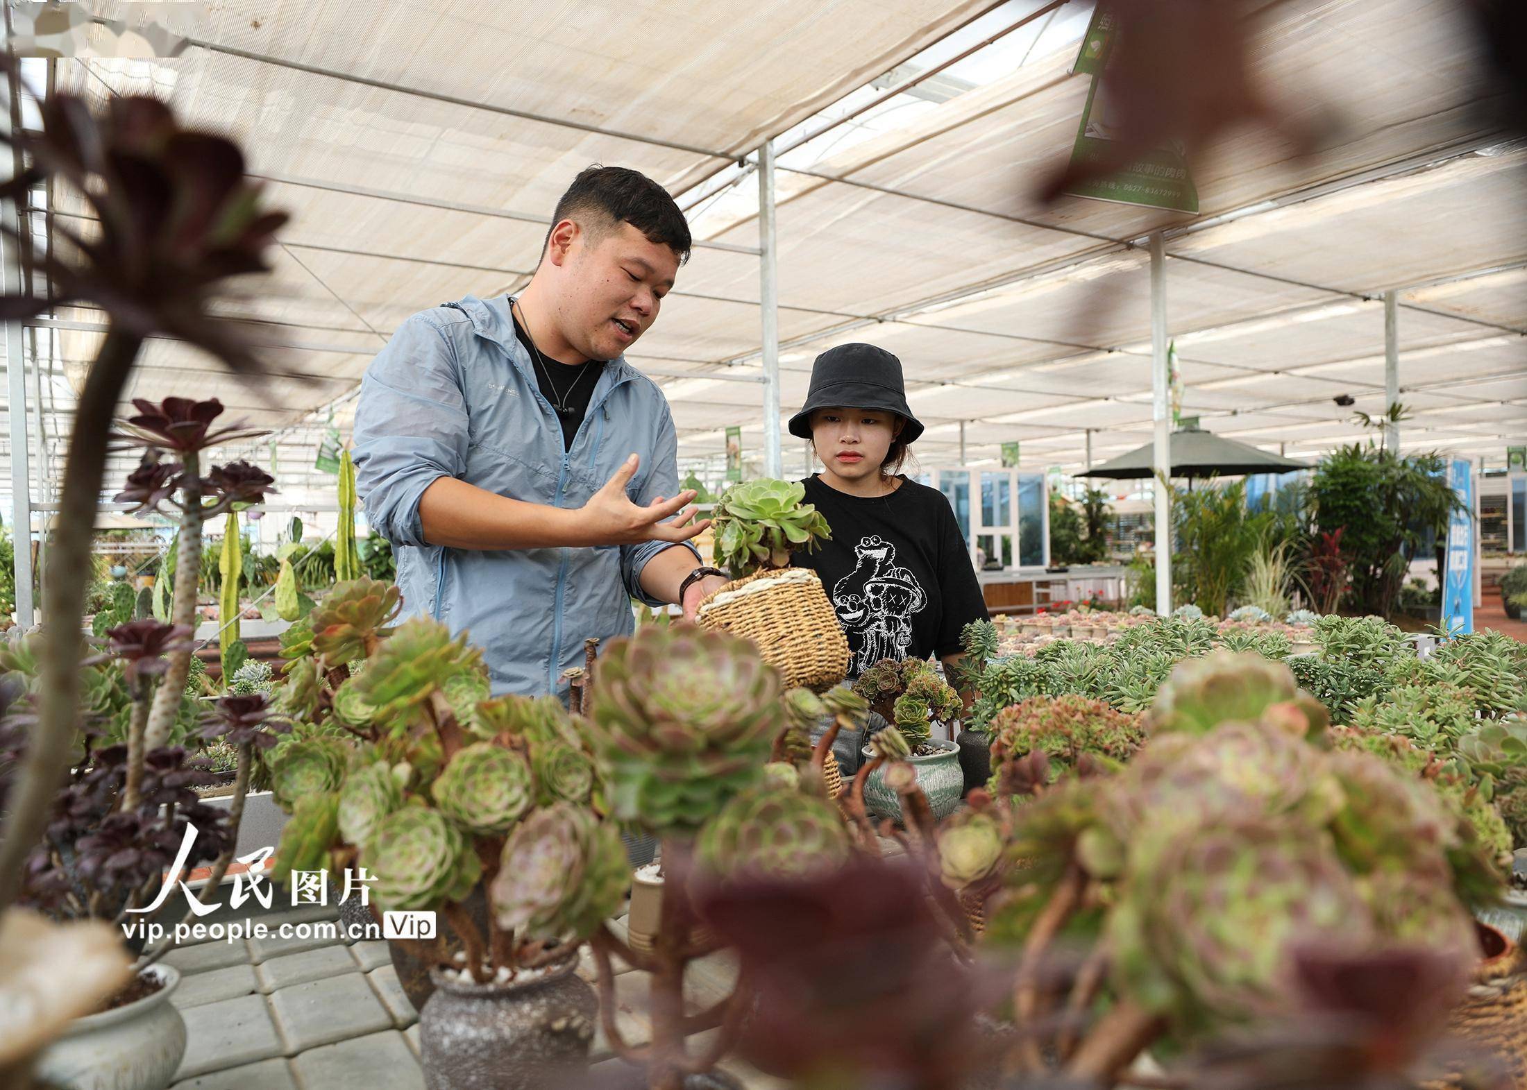
[[[270, 931], [310, 925], [310, 937], [206, 940], [182, 945], [165, 962], [182, 972], [171, 997], [186, 1021], [186, 1055], [173, 1090], [423, 1090], [418, 1015], [397, 983], [385, 942], [336, 937], [334, 908], [286, 908], [249, 916]], [[209, 921], [218, 917], [208, 917]], [[625, 919], [612, 922], [625, 937]], [[592, 983], [588, 951], [579, 976]], [[617, 1024], [631, 1044], [646, 1043], [647, 974], [617, 963]], [[731, 988], [724, 956], [690, 966], [689, 1000], [710, 1006]], [[692, 1047], [702, 1047], [704, 1037]], [[603, 1032], [591, 1063], [611, 1058]], [[728, 1061], [748, 1090], [786, 1084]]]

